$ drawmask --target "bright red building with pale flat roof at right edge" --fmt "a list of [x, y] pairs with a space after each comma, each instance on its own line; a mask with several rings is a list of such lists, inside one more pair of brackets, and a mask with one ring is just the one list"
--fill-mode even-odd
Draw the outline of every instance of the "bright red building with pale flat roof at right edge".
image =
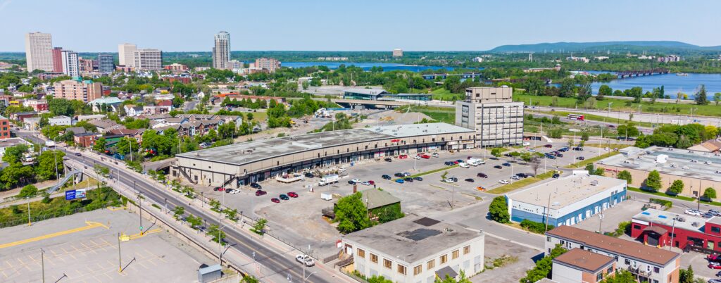
[[645, 210], [632, 219], [631, 236], [649, 246], [694, 249], [721, 253], [721, 217], [678, 215], [663, 210]]

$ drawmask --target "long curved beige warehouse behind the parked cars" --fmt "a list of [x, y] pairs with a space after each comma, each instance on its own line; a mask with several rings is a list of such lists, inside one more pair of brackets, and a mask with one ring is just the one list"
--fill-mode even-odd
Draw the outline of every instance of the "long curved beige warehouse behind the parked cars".
[[207, 148], [176, 156], [171, 176], [240, 187], [280, 174], [428, 151], [473, 148], [474, 130], [446, 123], [316, 132]]

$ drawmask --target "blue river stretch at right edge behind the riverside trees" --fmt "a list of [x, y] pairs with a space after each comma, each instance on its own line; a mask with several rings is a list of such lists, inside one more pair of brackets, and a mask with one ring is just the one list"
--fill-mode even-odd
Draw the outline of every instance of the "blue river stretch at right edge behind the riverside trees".
[[[606, 71], [588, 71], [589, 73], [613, 73]], [[593, 93], [598, 93], [598, 88], [602, 84], [607, 84], [613, 89], [625, 90], [635, 86], [640, 86], [643, 92], [653, 91], [653, 88], [663, 86], [665, 95], [676, 98], [678, 91], [689, 94], [689, 99], [699, 88], [699, 85], [706, 86], [706, 94], [709, 97], [717, 92], [721, 92], [721, 73], [689, 73], [689, 76], [676, 76], [676, 73], [666, 73], [663, 75], [653, 76], [634, 76], [631, 78], [618, 78], [608, 82], [596, 82], [591, 84]]]

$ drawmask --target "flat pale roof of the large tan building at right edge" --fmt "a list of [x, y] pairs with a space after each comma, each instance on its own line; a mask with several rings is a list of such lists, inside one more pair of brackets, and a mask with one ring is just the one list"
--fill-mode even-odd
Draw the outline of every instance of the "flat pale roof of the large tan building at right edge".
[[[668, 156], [665, 163], [657, 163], [660, 155]], [[721, 155], [678, 148], [660, 148], [652, 146], [604, 158], [599, 164], [618, 166], [642, 171], [658, 170], [662, 174], [685, 176], [689, 178], [721, 181]]]

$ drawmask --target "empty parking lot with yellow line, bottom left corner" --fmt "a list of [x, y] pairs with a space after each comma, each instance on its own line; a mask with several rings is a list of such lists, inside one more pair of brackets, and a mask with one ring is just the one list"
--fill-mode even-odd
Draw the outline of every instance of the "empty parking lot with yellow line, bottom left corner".
[[[150, 225], [146, 223], [146, 225]], [[0, 281], [197, 282], [202, 254], [160, 229], [143, 236], [138, 216], [125, 210], [95, 210], [3, 229]], [[118, 233], [132, 240], [120, 243]], [[41, 255], [42, 249], [42, 255]]]

